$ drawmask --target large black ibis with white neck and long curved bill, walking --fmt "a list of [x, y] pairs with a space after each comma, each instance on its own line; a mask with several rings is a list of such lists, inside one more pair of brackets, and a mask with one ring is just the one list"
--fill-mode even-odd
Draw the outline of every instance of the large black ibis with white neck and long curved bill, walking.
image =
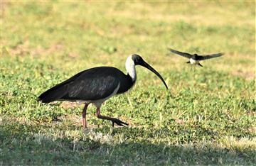
[[[82, 125], [87, 128], [86, 110], [89, 104], [95, 104], [97, 111], [97, 118], [107, 119], [112, 121], [112, 125], [116, 123], [119, 126], [128, 125], [117, 118], [102, 116], [100, 114], [100, 106], [104, 101], [114, 96], [115, 94], [122, 94], [127, 92], [136, 81], [135, 65], [141, 65], [154, 72], [162, 82], [164, 79], [154, 70], [148, 63], [146, 63], [139, 55], [130, 55], [127, 57], [125, 67], [128, 74], [115, 67], [94, 67], [75, 74], [70, 79], [61, 82], [43, 92], [38, 99], [43, 103], [50, 103], [51, 101], [82, 101], [85, 107], [82, 110]], [[168, 89], [164, 82], [166, 89]]]

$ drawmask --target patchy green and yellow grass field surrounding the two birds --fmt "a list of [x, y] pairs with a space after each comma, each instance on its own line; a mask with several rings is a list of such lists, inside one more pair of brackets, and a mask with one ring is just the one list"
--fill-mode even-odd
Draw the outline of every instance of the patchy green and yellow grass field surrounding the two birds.
[[[255, 165], [255, 2], [1, 1], [0, 165]], [[167, 48], [225, 52], [186, 65]], [[39, 94], [100, 65], [125, 71], [138, 53], [166, 79], [137, 67], [126, 94], [102, 114], [41, 104]]]

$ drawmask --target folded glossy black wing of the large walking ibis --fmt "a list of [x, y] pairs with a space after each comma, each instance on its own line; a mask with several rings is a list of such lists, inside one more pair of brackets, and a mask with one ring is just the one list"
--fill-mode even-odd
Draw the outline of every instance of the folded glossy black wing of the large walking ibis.
[[56, 100], [104, 99], [117, 88], [121, 74], [122, 72], [114, 67], [84, 70], [43, 92], [38, 99], [43, 103]]

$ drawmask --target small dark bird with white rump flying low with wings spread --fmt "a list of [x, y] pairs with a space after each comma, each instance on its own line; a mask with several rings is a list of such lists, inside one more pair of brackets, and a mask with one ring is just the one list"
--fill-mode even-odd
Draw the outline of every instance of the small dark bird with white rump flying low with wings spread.
[[169, 48], [169, 50], [177, 55], [181, 55], [183, 57], [187, 57], [189, 59], [188, 62], [186, 63], [191, 63], [192, 65], [199, 65], [201, 67], [203, 67], [203, 65], [200, 64], [200, 61], [201, 60], [208, 60], [210, 58], [213, 58], [213, 57], [220, 57], [223, 55], [223, 53], [217, 53], [217, 54], [211, 54], [211, 55], [197, 55], [197, 54], [189, 54], [189, 53], [186, 53], [186, 52], [180, 52], [180, 51], [177, 51], [177, 50], [173, 50], [171, 48]]

